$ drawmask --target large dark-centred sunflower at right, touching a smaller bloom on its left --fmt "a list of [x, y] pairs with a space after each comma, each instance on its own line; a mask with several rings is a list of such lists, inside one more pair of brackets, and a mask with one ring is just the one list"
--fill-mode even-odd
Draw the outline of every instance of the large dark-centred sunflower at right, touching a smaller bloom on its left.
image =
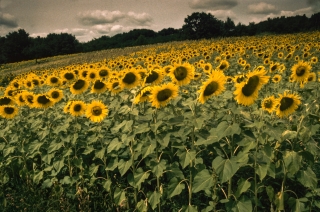
[[297, 94], [289, 94], [285, 91], [283, 95], [279, 94], [279, 96], [276, 100], [278, 104], [276, 114], [280, 118], [292, 114], [301, 104], [300, 96]]

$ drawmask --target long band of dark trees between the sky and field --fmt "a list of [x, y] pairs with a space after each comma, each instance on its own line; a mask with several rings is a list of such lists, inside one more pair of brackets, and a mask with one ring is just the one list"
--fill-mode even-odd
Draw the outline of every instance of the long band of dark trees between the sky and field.
[[170, 41], [208, 39], [214, 37], [252, 36], [262, 33], [287, 34], [320, 30], [320, 13], [310, 18], [305, 15], [268, 18], [259, 23], [235, 25], [227, 18], [221, 21], [210, 13], [196, 12], [187, 16], [180, 29], [166, 28], [158, 32], [150, 29], [134, 29], [129, 32], [95, 38], [80, 43], [68, 33], [50, 33], [46, 37], [30, 37], [24, 29], [0, 36], [0, 64], [32, 60], [80, 52], [122, 48]]

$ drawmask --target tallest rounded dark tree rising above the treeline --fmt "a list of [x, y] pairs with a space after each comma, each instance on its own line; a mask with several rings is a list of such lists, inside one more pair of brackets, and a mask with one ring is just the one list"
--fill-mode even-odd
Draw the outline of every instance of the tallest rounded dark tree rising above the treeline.
[[188, 39], [212, 38], [222, 35], [223, 22], [210, 13], [196, 12], [184, 19], [182, 30]]

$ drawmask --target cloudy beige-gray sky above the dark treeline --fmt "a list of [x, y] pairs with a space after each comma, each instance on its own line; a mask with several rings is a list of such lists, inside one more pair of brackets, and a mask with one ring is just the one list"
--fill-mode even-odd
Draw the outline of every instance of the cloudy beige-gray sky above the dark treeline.
[[181, 28], [193, 12], [235, 24], [320, 12], [320, 0], [0, 0], [0, 36], [69, 33], [80, 42], [132, 29]]

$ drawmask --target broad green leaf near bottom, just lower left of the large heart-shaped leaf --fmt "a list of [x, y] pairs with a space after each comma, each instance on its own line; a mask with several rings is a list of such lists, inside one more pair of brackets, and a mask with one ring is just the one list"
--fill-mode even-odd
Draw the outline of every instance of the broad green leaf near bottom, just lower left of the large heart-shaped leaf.
[[210, 189], [214, 185], [213, 177], [207, 169], [196, 174], [193, 180], [192, 193]]

